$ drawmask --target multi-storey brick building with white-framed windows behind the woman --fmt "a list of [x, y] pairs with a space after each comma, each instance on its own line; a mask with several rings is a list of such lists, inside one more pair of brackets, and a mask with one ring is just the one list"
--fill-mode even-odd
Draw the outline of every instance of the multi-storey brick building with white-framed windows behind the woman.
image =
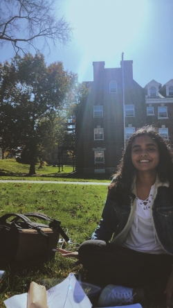
[[110, 69], [104, 68], [104, 62], [93, 62], [93, 81], [86, 86], [90, 87], [89, 96], [76, 114], [78, 173], [115, 172], [124, 139], [145, 124], [155, 123], [161, 135], [173, 143], [173, 80], [163, 87], [152, 80], [143, 88], [133, 79], [132, 60]]

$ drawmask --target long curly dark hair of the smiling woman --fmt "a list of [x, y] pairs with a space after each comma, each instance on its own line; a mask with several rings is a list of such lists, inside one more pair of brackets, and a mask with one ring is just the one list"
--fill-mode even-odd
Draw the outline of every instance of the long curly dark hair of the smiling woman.
[[134, 198], [131, 194], [131, 185], [136, 174], [136, 169], [131, 161], [131, 145], [136, 137], [147, 135], [154, 139], [158, 146], [159, 162], [156, 167], [158, 178], [164, 182], [169, 180], [170, 187], [173, 189], [173, 162], [172, 152], [169, 144], [159, 135], [158, 129], [154, 126], [143, 126], [138, 128], [131, 137], [129, 137], [125, 150], [122, 153], [122, 159], [118, 165], [118, 171], [114, 175], [113, 182], [109, 185], [108, 194], [111, 199], [115, 199], [122, 204], [125, 191], [129, 196]]

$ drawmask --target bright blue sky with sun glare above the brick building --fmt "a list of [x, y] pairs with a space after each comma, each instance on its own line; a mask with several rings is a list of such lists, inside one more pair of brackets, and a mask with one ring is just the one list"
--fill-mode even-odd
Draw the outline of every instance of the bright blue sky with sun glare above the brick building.
[[[120, 67], [124, 52], [142, 87], [152, 79], [163, 85], [173, 78], [172, 0], [57, 0], [56, 6], [71, 22], [73, 39], [68, 46], [51, 46], [51, 55], [45, 49], [48, 64], [61, 60], [80, 82], [92, 81], [93, 61]], [[1, 61], [12, 56], [10, 45], [1, 49]]]

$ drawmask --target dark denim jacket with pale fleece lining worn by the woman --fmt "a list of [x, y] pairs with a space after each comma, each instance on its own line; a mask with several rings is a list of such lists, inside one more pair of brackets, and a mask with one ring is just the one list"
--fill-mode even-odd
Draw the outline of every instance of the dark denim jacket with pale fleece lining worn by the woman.
[[[135, 183], [135, 180], [134, 180]], [[123, 205], [118, 205], [107, 196], [102, 211], [102, 219], [98, 228], [93, 232], [92, 239], [121, 245], [131, 228], [136, 211], [136, 185], [133, 185], [134, 201], [125, 194]], [[173, 203], [170, 201], [169, 182], [161, 182], [158, 178], [155, 183], [152, 206], [152, 222], [157, 239], [163, 250], [173, 255]]]

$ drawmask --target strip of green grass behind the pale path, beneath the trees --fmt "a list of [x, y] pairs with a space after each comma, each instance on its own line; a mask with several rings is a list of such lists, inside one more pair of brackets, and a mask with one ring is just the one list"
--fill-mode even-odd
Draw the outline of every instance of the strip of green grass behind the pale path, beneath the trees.
[[87, 181], [110, 182], [109, 174], [77, 174], [73, 172], [73, 166], [35, 166], [36, 175], [28, 176], [30, 166], [19, 164], [15, 159], [0, 160], [0, 180], [56, 180], [56, 181]]

